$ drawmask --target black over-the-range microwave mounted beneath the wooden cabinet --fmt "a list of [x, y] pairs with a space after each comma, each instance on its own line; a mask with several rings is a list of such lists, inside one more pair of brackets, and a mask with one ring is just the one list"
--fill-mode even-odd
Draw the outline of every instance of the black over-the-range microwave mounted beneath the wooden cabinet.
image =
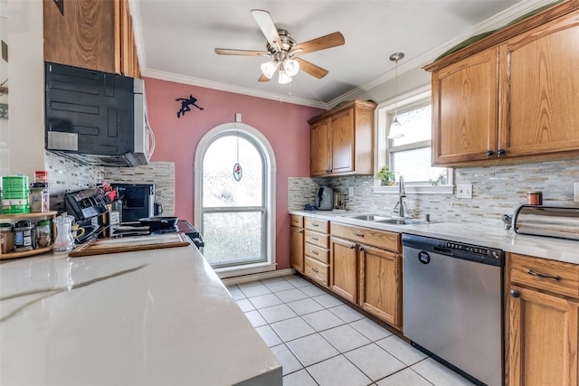
[[46, 149], [85, 165], [147, 165], [155, 148], [145, 84], [45, 62]]

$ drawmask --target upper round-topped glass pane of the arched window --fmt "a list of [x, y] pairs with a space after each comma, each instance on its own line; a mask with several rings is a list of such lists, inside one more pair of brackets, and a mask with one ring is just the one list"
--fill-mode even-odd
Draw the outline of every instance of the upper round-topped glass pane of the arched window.
[[[233, 178], [237, 162], [242, 165], [239, 182]], [[260, 152], [250, 141], [237, 136], [218, 138], [204, 154], [203, 206], [262, 206], [262, 168]]]

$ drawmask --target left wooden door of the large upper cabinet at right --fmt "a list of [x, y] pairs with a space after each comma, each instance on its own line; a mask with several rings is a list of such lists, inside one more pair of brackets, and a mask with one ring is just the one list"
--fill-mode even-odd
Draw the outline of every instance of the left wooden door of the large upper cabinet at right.
[[432, 73], [432, 165], [496, 157], [497, 55], [491, 48]]

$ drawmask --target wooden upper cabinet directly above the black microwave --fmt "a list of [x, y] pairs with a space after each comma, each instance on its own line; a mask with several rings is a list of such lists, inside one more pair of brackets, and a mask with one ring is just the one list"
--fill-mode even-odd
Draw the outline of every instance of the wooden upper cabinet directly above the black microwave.
[[44, 61], [140, 77], [128, 0], [43, 2]]

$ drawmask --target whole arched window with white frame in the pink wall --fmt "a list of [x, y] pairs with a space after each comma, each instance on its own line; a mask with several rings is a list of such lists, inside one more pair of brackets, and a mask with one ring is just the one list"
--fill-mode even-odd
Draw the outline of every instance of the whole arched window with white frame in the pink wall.
[[195, 152], [195, 227], [220, 277], [275, 269], [275, 159], [244, 124], [214, 127]]

